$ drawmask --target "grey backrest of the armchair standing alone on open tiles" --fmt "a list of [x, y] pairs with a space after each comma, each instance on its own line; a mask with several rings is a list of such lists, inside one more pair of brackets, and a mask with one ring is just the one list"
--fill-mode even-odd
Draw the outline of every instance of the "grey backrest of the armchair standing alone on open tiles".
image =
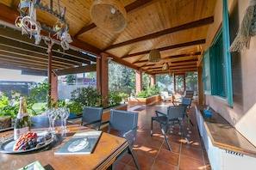
[[168, 106], [167, 107], [167, 117], [168, 120], [176, 120], [178, 118], [184, 118], [185, 116], [185, 105], [179, 105], [179, 106]]

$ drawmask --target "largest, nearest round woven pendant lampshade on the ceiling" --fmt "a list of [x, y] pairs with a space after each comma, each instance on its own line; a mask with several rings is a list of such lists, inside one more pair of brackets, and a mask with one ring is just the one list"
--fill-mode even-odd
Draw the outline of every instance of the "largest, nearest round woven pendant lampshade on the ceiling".
[[103, 30], [121, 33], [126, 27], [126, 10], [119, 0], [96, 0], [90, 13], [91, 20]]

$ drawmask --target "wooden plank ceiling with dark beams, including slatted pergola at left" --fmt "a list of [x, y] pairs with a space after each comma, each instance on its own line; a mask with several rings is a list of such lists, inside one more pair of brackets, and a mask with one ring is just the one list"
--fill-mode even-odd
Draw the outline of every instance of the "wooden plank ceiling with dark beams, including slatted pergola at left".
[[[41, 0], [50, 6], [51, 0]], [[208, 27], [213, 23], [216, 0], [120, 0], [127, 11], [127, 26], [121, 33], [111, 33], [91, 21], [93, 0], [59, 0], [66, 7], [66, 21], [72, 36], [70, 50], [64, 51], [56, 40], [52, 67], [59, 75], [96, 70], [95, 55], [106, 52], [114, 62], [148, 74], [164, 74], [167, 62], [174, 73], [197, 71]], [[0, 68], [47, 73], [47, 45], [34, 44], [30, 35], [15, 27], [20, 15], [19, 0], [0, 1]], [[53, 10], [58, 11], [58, 0]], [[52, 27], [58, 18], [37, 9], [37, 21]], [[42, 31], [42, 35], [48, 36]], [[56, 36], [50, 34], [53, 39]], [[158, 49], [161, 61], [148, 62], [149, 52]], [[76, 68], [76, 69], [73, 69]], [[65, 70], [65, 71], [64, 71]], [[74, 71], [77, 70], [77, 71]], [[61, 72], [63, 71], [63, 72]]]

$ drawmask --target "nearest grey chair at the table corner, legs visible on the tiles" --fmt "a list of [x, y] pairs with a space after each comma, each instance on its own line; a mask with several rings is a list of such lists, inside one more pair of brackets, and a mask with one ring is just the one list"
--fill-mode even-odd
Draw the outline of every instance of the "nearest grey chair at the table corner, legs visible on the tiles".
[[140, 169], [139, 163], [136, 160], [134, 151], [132, 149], [136, 140], [138, 130], [138, 112], [128, 112], [111, 109], [109, 120], [102, 122], [102, 124], [109, 124], [109, 128], [107, 131], [108, 133], [112, 133], [112, 130], [113, 132], [119, 131], [121, 132], [120, 134], [122, 134], [121, 136], [128, 140], [128, 148], [122, 153], [122, 155], [126, 153], [132, 155], [137, 169]]

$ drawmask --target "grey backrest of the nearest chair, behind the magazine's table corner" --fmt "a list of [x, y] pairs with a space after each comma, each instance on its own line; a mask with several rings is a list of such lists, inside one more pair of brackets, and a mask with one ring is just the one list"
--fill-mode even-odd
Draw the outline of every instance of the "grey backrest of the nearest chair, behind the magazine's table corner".
[[[110, 110], [109, 131], [114, 129], [117, 131], [127, 132], [138, 126], [138, 112], [128, 112], [121, 110]], [[108, 132], [109, 132], [108, 131]]]

